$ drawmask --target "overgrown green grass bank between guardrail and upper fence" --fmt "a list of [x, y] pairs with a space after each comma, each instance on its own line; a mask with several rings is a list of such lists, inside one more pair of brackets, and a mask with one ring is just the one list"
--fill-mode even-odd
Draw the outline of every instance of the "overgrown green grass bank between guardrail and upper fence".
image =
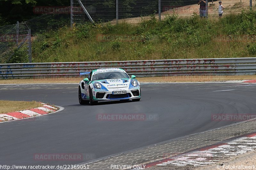
[[[152, 16], [139, 24], [88, 23], [37, 35], [32, 42], [32, 61], [255, 57], [254, 35], [255, 11], [230, 14], [215, 20], [200, 19], [197, 15], [190, 18], [170, 15], [161, 22]], [[99, 41], [100, 36], [108, 37]], [[239, 36], [249, 39], [232, 39]], [[220, 41], [220, 37], [226, 38]], [[18, 60], [19, 56], [16, 58]]]

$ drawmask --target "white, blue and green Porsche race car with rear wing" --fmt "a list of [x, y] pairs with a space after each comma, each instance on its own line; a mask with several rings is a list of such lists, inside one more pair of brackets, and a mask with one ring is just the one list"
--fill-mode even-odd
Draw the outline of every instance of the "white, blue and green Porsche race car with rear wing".
[[79, 74], [89, 75], [80, 81], [78, 87], [78, 99], [82, 105], [111, 100], [140, 101], [140, 82], [134, 75], [130, 78], [123, 69], [97, 69]]

